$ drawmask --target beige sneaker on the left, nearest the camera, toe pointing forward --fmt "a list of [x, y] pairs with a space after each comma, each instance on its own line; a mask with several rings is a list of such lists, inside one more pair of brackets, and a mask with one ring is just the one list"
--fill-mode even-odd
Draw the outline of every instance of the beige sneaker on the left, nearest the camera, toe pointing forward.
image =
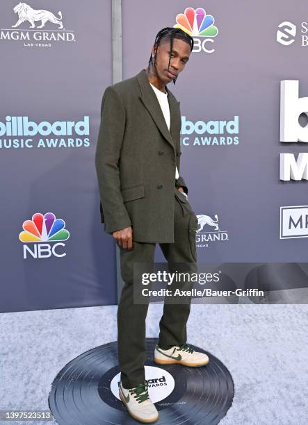
[[159, 419], [159, 412], [149, 398], [147, 383], [140, 383], [137, 387], [126, 389], [120, 382], [119, 395], [133, 419], [145, 424]]

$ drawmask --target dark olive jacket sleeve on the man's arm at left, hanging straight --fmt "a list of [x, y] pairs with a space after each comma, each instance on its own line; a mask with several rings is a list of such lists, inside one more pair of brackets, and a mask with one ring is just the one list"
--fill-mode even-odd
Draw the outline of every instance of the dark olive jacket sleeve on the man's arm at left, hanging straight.
[[95, 167], [106, 233], [131, 226], [131, 219], [120, 190], [118, 166], [125, 120], [122, 99], [112, 86], [108, 86], [102, 98], [101, 122], [95, 152]]

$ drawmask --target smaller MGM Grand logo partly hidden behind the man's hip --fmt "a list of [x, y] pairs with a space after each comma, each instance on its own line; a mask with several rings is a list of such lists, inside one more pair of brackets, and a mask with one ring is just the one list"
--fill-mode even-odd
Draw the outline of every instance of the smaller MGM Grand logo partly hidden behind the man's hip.
[[[208, 242], [225, 242], [229, 240], [227, 231], [220, 230], [218, 226], [218, 215], [212, 219], [209, 215], [199, 214], [198, 228], [196, 231], [196, 243], [198, 248], [209, 247]], [[211, 230], [213, 229], [213, 230]]]

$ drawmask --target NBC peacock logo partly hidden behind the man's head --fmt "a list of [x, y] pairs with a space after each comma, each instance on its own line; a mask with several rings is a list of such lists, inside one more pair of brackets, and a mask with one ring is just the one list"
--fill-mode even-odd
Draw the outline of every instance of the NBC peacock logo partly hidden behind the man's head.
[[[175, 20], [177, 24], [174, 25], [174, 28], [181, 28], [181, 30], [193, 37], [193, 52], [213, 53], [215, 51], [213, 48], [209, 49], [206, 44], [213, 44], [213, 38], [218, 35], [218, 28], [214, 25], [214, 17], [206, 15], [204, 8], [186, 8], [184, 13], [179, 13]], [[200, 40], [201, 37], [204, 40]]]

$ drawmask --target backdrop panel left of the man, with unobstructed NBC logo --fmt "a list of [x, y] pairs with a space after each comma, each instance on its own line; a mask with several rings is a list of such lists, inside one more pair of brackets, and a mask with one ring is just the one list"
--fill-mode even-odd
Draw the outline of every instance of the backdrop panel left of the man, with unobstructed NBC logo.
[[117, 302], [95, 147], [111, 1], [0, 3], [0, 311]]

